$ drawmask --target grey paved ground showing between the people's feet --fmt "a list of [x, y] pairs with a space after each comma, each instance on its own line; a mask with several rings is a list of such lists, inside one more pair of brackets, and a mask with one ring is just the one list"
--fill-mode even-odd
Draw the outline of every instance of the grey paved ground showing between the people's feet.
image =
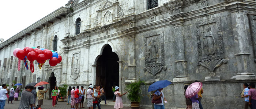
[[[20, 98], [19, 98], [19, 100], [20, 100]], [[11, 103], [11, 101], [9, 103]], [[13, 104], [8, 104], [8, 101], [6, 100], [4, 109], [18, 109], [20, 101], [12, 101], [12, 103]], [[113, 101], [108, 100], [107, 104], [109, 104], [109, 105], [105, 105], [104, 100], [102, 100], [101, 109], [114, 109]], [[84, 102], [84, 107], [85, 108], [82, 108], [82, 109], [88, 109], [87, 105], [86, 105], [86, 102]], [[70, 109], [71, 107], [70, 107], [70, 105], [67, 105], [67, 102], [58, 102], [56, 107], [53, 108], [52, 107], [52, 100], [44, 100], [44, 103], [41, 106], [41, 108], [42, 109]], [[96, 108], [96, 109], [98, 109], [98, 108]], [[122, 109], [131, 109], [131, 108], [124, 107]]]

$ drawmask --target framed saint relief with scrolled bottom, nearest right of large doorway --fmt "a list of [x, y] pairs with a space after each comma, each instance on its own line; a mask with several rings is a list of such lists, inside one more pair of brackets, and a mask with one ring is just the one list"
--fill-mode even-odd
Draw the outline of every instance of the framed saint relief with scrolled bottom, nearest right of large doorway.
[[154, 79], [156, 78], [155, 75], [161, 72], [162, 69], [167, 69], [164, 65], [163, 42], [163, 32], [151, 33], [144, 36], [145, 67], [143, 70], [153, 74]]

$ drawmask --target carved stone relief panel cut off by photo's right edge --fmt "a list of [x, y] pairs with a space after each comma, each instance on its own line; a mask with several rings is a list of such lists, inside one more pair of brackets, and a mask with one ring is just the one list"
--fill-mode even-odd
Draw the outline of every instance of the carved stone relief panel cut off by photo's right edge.
[[254, 52], [254, 62], [256, 62], [256, 16], [249, 15], [249, 22], [251, 28], [251, 35], [252, 35], [252, 43], [253, 43], [253, 52]]

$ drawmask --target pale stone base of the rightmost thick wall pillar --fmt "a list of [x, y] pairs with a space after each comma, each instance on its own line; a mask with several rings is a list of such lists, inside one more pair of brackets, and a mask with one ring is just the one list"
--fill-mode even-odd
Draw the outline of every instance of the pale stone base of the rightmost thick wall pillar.
[[237, 73], [236, 76], [231, 77], [231, 79], [236, 78], [236, 80], [255, 80], [256, 76], [253, 73]]

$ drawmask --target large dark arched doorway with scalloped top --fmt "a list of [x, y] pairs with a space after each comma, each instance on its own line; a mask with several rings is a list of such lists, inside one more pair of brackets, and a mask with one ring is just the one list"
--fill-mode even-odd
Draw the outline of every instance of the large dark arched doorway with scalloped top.
[[106, 45], [102, 55], [97, 60], [96, 68], [96, 85], [105, 87], [107, 99], [113, 99], [112, 86], [119, 86], [119, 58], [116, 53], [112, 52], [110, 45]]

